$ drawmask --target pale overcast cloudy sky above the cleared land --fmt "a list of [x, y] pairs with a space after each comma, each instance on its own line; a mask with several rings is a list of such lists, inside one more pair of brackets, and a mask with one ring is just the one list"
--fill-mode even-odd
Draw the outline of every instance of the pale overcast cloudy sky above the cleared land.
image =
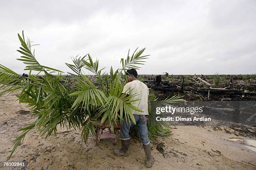
[[256, 73], [256, 0], [1, 0], [0, 64], [25, 65], [17, 33], [42, 65], [69, 71], [89, 53], [120, 67], [128, 49], [151, 55], [139, 74]]

